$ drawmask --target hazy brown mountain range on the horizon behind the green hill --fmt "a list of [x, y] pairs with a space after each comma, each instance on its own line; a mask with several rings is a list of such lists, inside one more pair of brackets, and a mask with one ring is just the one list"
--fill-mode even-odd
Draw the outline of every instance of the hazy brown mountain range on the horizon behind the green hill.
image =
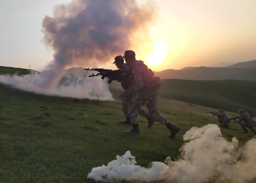
[[256, 80], [256, 60], [237, 63], [229, 67], [200, 66], [193, 69], [162, 70], [154, 72], [161, 79], [181, 80]]

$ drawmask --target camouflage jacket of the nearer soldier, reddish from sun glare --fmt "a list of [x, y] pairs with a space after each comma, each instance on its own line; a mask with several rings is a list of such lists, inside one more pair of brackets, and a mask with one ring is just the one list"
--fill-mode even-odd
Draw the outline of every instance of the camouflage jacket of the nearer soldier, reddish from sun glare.
[[159, 89], [160, 78], [155, 77], [151, 69], [147, 68], [147, 65], [141, 60], [136, 60], [133, 65], [130, 66], [131, 74], [133, 77], [133, 85], [128, 93], [135, 93], [141, 90], [156, 90]]

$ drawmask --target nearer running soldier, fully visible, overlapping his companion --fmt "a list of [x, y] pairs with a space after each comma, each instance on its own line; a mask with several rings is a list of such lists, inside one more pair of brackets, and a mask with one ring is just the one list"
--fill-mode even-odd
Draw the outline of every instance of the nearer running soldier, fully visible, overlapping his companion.
[[146, 105], [151, 118], [154, 118], [156, 122], [165, 124], [171, 131], [168, 137], [174, 138], [176, 133], [180, 131], [180, 128], [170, 123], [168, 119], [158, 111], [158, 92], [161, 86], [160, 78], [154, 77], [152, 70], [148, 69], [143, 61], [135, 59], [134, 51], [125, 51], [124, 57], [133, 74], [134, 80], [133, 86], [126, 91], [122, 91], [118, 97], [118, 99], [122, 101], [127, 95], [133, 96], [128, 103], [127, 112], [127, 117], [131, 117], [133, 128], [127, 132], [129, 134], [139, 134], [137, 110], [140, 106]]

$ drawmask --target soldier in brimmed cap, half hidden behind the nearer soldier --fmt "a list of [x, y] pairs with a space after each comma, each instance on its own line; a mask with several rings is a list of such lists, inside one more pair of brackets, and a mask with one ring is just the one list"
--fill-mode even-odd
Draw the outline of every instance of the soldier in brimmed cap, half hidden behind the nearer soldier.
[[[129, 70], [129, 66], [127, 66], [125, 63], [124, 63], [124, 60], [123, 60], [123, 57], [121, 55], [119, 56], [116, 56], [115, 57], [115, 61], [114, 63], [115, 66], [117, 66], [118, 69], [120, 70]], [[133, 78], [131, 77], [130, 74], [121, 74], [121, 76], [118, 76], [115, 78], [116, 81], [118, 82], [121, 82], [121, 86], [124, 90], [128, 90], [129, 88], [131, 88], [131, 86], [133, 85]], [[128, 103], [131, 101], [131, 95], [126, 95], [125, 98], [123, 98], [123, 101], [122, 101], [122, 110], [123, 110], [123, 113], [126, 115], [127, 114], [127, 111], [128, 111]], [[154, 119], [152, 119], [150, 117], [150, 114], [143, 109], [143, 107], [138, 107], [138, 113], [139, 115], [141, 115], [142, 117], [145, 117], [147, 118], [148, 120], [148, 128], [150, 128], [153, 124], [154, 124]], [[126, 116], [126, 120], [125, 121], [121, 121], [119, 122], [121, 124], [130, 124], [131, 125], [131, 117], [127, 117]]]

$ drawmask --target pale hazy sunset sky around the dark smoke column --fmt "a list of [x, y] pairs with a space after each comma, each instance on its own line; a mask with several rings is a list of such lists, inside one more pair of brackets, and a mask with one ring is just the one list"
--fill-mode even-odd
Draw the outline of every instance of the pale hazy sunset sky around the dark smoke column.
[[[53, 16], [55, 5], [69, 2], [1, 0], [0, 65], [40, 70], [49, 64], [53, 50], [42, 41], [42, 22], [46, 15]], [[152, 70], [256, 59], [255, 0], [158, 0], [155, 3], [159, 16], [147, 27], [148, 42], [138, 43], [134, 39], [130, 48]], [[139, 34], [144, 36], [143, 30]], [[104, 66], [113, 67], [112, 61]]]

